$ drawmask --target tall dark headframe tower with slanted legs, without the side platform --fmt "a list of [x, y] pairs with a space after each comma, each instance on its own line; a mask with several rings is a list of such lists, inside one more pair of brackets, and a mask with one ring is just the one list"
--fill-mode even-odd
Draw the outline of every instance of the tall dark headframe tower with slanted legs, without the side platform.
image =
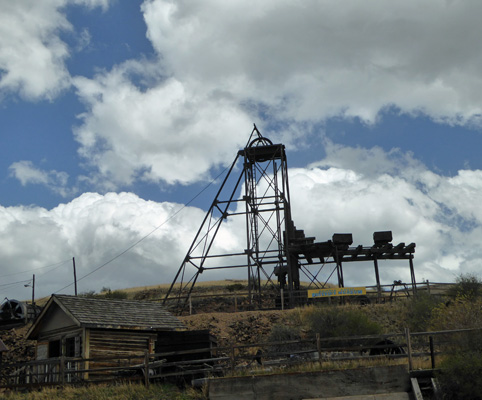
[[[242, 170], [233, 179], [235, 166], [242, 160]], [[242, 193], [242, 186], [244, 192]], [[244, 207], [242, 204], [244, 203]], [[244, 216], [246, 247], [238, 245], [239, 251], [231, 252], [236, 245], [227, 245], [228, 231], [223, 224], [236, 224]], [[248, 275], [249, 301], [260, 301], [265, 287], [278, 288], [273, 282], [274, 271], [285, 271], [288, 289], [299, 286], [298, 263], [290, 268], [284, 243], [289, 242], [292, 232], [288, 167], [285, 147], [273, 144], [263, 137], [254, 126], [248, 144], [239, 150], [214, 201], [164, 298], [177, 300], [177, 307], [184, 309], [199, 275], [206, 270], [245, 268]], [[224, 236], [224, 245], [216, 238]], [[270, 269], [268, 269], [268, 267]], [[292, 270], [295, 271], [292, 273]], [[295, 282], [294, 282], [295, 281]], [[297, 283], [296, 283], [297, 282]]]

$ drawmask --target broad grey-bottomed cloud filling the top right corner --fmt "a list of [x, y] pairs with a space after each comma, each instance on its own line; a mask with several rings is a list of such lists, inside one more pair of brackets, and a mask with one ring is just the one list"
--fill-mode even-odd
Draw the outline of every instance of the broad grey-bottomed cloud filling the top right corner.
[[475, 1], [146, 0], [147, 34], [179, 80], [286, 120], [374, 122], [386, 106], [450, 123], [481, 114]]

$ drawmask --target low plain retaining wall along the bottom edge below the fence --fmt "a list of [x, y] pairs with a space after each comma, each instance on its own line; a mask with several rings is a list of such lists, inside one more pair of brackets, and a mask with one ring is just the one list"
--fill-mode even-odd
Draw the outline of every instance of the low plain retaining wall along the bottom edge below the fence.
[[404, 365], [209, 380], [210, 400], [301, 400], [408, 391]]

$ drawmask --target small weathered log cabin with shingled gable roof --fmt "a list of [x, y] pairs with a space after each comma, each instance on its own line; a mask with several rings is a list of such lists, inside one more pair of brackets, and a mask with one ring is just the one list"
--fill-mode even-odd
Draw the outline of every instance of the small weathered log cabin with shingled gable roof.
[[[52, 295], [27, 333], [36, 340], [36, 359], [99, 359], [154, 353], [163, 332], [185, 330], [159, 303]], [[135, 362], [136, 360], [134, 360]], [[109, 363], [84, 363], [82, 369]], [[87, 375], [86, 375], [87, 376]]]

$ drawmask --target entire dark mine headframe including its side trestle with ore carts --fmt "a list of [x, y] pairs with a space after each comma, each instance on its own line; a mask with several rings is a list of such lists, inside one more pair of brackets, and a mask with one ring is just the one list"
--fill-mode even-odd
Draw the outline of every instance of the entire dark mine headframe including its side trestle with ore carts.
[[[233, 179], [240, 161], [241, 173]], [[224, 225], [236, 229], [244, 225], [245, 246], [229, 237], [229, 232], [223, 230]], [[222, 244], [215, 241], [220, 234], [224, 238]], [[260, 301], [262, 290], [271, 287], [283, 293], [283, 299], [287, 296], [288, 306], [294, 306], [295, 294], [300, 289], [300, 273], [304, 273], [310, 287], [323, 288], [326, 282], [321, 282], [318, 275], [326, 265], [335, 264], [328, 279], [336, 271], [338, 286], [344, 287], [343, 263], [351, 261], [374, 262], [380, 296], [378, 261], [386, 259], [410, 261], [415, 290], [412, 263], [415, 244], [393, 246], [391, 240], [390, 231], [375, 232], [373, 246], [350, 247], [351, 234], [334, 234], [332, 240], [315, 242], [314, 237], [306, 237], [303, 230], [296, 229], [291, 217], [285, 146], [273, 144], [254, 126], [246, 147], [238, 151], [206, 213], [164, 304], [174, 298], [183, 309], [204, 271], [245, 268], [250, 304], [256, 299]], [[318, 271], [310, 269], [313, 265]]]

